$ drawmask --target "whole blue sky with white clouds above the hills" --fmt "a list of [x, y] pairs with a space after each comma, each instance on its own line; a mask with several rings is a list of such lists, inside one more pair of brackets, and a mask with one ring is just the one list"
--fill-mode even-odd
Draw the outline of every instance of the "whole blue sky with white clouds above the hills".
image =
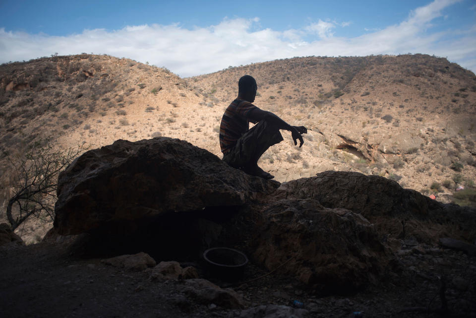
[[406, 53], [475, 72], [476, 1], [0, 1], [0, 63], [82, 52], [180, 76], [295, 56]]

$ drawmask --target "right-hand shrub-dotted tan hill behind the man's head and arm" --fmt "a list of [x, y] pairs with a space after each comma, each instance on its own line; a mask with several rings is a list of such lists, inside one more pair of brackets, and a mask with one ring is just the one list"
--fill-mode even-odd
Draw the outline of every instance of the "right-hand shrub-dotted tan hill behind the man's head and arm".
[[402, 177], [402, 185], [422, 191], [451, 180], [453, 163], [463, 164], [465, 176], [475, 179], [476, 77], [446, 59], [294, 58], [188, 81], [226, 105], [243, 74], [258, 82], [258, 107], [312, 130], [302, 149], [280, 144], [265, 154], [263, 166], [278, 180], [357, 170]]

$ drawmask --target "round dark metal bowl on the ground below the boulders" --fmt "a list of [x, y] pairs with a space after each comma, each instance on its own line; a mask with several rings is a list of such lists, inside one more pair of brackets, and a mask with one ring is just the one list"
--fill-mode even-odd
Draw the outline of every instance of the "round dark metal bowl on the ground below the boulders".
[[226, 281], [235, 281], [243, 276], [248, 257], [245, 254], [230, 248], [213, 248], [203, 253], [211, 276]]

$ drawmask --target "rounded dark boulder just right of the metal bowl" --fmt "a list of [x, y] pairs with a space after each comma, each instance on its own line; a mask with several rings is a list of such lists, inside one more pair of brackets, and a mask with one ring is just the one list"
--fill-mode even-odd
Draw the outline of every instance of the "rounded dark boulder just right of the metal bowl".
[[259, 228], [253, 256], [321, 291], [350, 292], [376, 282], [393, 258], [361, 214], [311, 198], [272, 203]]

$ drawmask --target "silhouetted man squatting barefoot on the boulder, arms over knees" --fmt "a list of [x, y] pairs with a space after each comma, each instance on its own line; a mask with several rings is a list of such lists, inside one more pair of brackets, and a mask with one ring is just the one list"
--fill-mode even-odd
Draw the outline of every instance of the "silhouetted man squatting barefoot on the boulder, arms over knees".
[[[258, 167], [261, 155], [274, 144], [283, 140], [279, 129], [291, 131], [294, 144], [302, 146], [304, 126], [291, 126], [275, 114], [263, 111], [251, 104], [256, 97], [258, 85], [250, 75], [244, 75], [238, 81], [238, 97], [228, 106], [220, 124], [220, 148], [223, 160], [230, 166], [247, 174], [265, 179], [274, 176]], [[249, 129], [249, 122], [256, 124]]]

